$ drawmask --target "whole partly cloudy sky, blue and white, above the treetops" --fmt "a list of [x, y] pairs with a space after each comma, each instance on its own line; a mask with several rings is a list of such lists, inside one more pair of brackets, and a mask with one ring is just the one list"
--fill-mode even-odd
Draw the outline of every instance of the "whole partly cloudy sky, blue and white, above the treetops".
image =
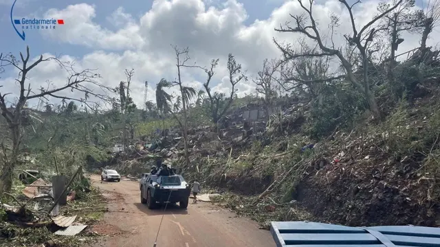
[[[380, 1], [366, 0], [354, 10], [358, 27], [370, 21]], [[64, 25], [55, 30], [25, 30], [25, 40], [17, 35], [10, 20], [14, 0], [0, 0], [0, 52], [19, 56], [30, 47], [32, 59], [56, 56], [63, 61], [74, 61], [76, 71], [96, 69], [100, 83], [115, 87], [125, 80], [124, 70], [134, 69], [131, 96], [142, 108], [144, 82], [148, 81], [148, 100], [155, 99], [155, 85], [161, 78], [173, 81], [177, 76], [175, 54], [171, 45], [189, 47], [191, 64], [207, 67], [210, 60], [219, 58], [211, 87], [213, 91], [230, 92], [228, 72], [225, 67], [232, 53], [248, 75], [247, 82], [238, 88], [240, 97], [255, 93], [252, 78], [262, 68], [265, 58], [279, 58], [273, 38], [279, 42], [297, 44], [301, 36], [279, 33], [275, 27], [292, 21], [289, 14], [301, 14], [298, 1], [283, 0], [17, 0], [13, 19], [63, 19]], [[416, 8], [423, 8], [417, 1]], [[331, 14], [340, 16], [340, 27], [333, 34], [337, 46], [344, 46], [343, 34], [351, 26], [345, 10], [337, 0], [319, 0], [314, 4], [314, 14], [322, 34], [328, 36]], [[16, 25], [21, 27], [21, 25]], [[21, 31], [19, 29], [19, 31]], [[419, 46], [419, 34], [404, 34], [404, 43], [397, 54]], [[440, 40], [436, 28], [428, 45]], [[7, 99], [14, 101], [19, 91], [15, 78], [18, 71], [5, 68], [0, 75], [2, 94], [11, 93]], [[202, 89], [206, 73], [202, 69], [185, 68], [184, 84]], [[27, 82], [32, 91], [51, 86], [63, 86], [68, 74], [54, 61], [43, 62], [32, 69]], [[96, 89], [98, 90], [98, 89]], [[176, 93], [176, 88], [170, 93]], [[98, 92], [98, 91], [96, 91]], [[65, 92], [65, 95], [83, 97], [83, 93]], [[58, 103], [59, 99], [50, 99]]]

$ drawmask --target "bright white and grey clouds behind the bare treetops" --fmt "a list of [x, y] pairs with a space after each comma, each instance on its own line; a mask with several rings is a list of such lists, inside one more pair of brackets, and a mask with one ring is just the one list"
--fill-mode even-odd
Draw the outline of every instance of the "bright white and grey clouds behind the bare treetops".
[[[260, 69], [264, 58], [280, 56], [273, 44], [273, 37], [289, 43], [296, 43], [300, 38], [298, 34], [281, 34], [274, 31], [274, 27], [292, 21], [289, 14], [302, 12], [297, 1], [285, 1], [280, 8], [273, 10], [268, 19], [256, 20], [251, 25], [244, 24], [248, 19], [248, 13], [242, 3], [228, 0], [216, 4], [216, 7], [207, 7], [208, 3], [212, 1], [156, 0], [151, 10], [144, 13], [140, 19], [134, 19], [124, 12], [123, 8], [118, 8], [107, 18], [107, 21], [111, 21], [118, 28], [115, 32], [94, 22], [96, 6], [86, 3], [69, 5], [63, 10], [47, 11], [45, 16], [59, 16], [65, 19], [65, 26], [55, 32], [42, 34], [65, 43], [96, 49], [91, 54], [76, 58], [76, 63], [82, 68], [99, 69], [102, 83], [108, 86], [117, 86], [120, 80], [124, 80], [124, 69], [134, 68], [131, 95], [138, 105], [142, 105], [145, 80], [148, 80], [150, 85], [148, 99], [151, 100], [154, 100], [153, 89], [160, 78], [175, 80], [175, 56], [170, 44], [190, 47], [191, 61], [197, 61], [201, 66], [208, 66], [212, 58], [220, 58], [220, 66], [212, 80], [212, 88], [228, 92], [230, 85], [225, 80], [225, 62], [229, 53], [234, 54], [237, 62], [243, 64], [243, 69], [247, 69], [249, 77], [252, 78]], [[366, 1], [355, 8], [358, 27], [371, 20], [377, 3], [377, 0]], [[351, 25], [342, 4], [337, 0], [319, 2], [314, 5], [314, 13], [322, 36], [327, 37], [327, 42], [330, 42], [327, 26], [331, 14], [341, 16], [341, 25], [336, 30], [333, 40], [336, 45], [343, 46], [342, 35], [351, 32]], [[418, 45], [419, 35], [406, 34], [404, 38], [405, 42], [400, 45], [398, 53]], [[430, 44], [438, 39], [439, 32], [434, 30], [430, 36]], [[114, 53], [115, 50], [120, 52]], [[56, 70], [52, 70], [52, 66], [50, 65], [51, 69], [36, 69], [31, 74], [34, 76], [31, 80], [36, 84], [44, 83], [45, 80], [63, 82], [63, 74], [53, 72]], [[184, 69], [183, 77], [186, 84], [200, 89], [205, 73], [201, 69]], [[254, 91], [251, 80], [237, 88], [240, 96]]]

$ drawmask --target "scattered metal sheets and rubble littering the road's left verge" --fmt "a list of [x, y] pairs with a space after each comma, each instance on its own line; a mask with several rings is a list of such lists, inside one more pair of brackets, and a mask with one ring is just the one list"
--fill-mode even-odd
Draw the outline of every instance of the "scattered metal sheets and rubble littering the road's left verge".
[[[78, 191], [74, 189], [83, 189], [83, 186], [78, 186], [78, 183], [81, 183], [81, 181], [85, 179], [83, 178], [83, 175], [81, 175], [81, 172], [79, 172], [80, 170], [81, 167], [70, 179], [69, 183], [64, 185], [65, 188], [61, 189], [61, 191], [65, 191], [63, 194], [67, 198], [68, 202], [65, 206], [58, 205], [59, 198], [62, 196], [54, 198], [54, 188], [52, 183], [48, 183], [43, 178], [36, 179], [34, 183], [30, 185], [24, 185], [25, 188], [21, 190], [21, 193], [14, 195], [10, 193], [3, 193], [5, 196], [3, 197], [3, 200], [7, 200], [8, 203], [0, 202], [0, 245], [9, 246], [3, 245], [2, 239], [7, 241], [6, 244], [8, 242], [10, 244], [13, 242], [19, 242], [24, 246], [28, 246], [28, 244], [39, 244], [40, 240], [49, 237], [50, 234], [74, 236], [87, 228], [87, 222], [90, 223], [91, 221], [89, 220], [89, 217], [84, 216], [84, 213], [87, 211], [94, 214], [99, 213], [100, 209], [96, 207], [99, 206], [100, 203], [104, 202], [91, 202], [93, 205], [88, 205], [87, 202], [83, 202], [81, 199], [76, 200]], [[76, 178], [77, 174], [79, 174], [79, 178]], [[74, 189], [69, 191], [69, 188]], [[88, 189], [88, 191], [91, 190]], [[80, 193], [84, 193], [84, 191], [80, 191]], [[93, 193], [99, 195], [97, 191], [94, 191]], [[87, 198], [87, 200], [90, 200], [90, 198]], [[80, 209], [76, 207], [77, 204], [81, 205]], [[87, 207], [93, 208], [90, 210], [85, 210]], [[5, 221], [3, 222], [1, 220], [2, 210], [5, 213], [5, 217], [3, 219]], [[79, 217], [78, 214], [72, 215], [72, 211], [78, 211], [78, 213], [83, 216]], [[86, 224], [81, 224], [80, 222]], [[36, 239], [32, 240], [29, 238], [20, 237], [22, 234], [30, 234], [25, 233], [25, 231], [34, 231], [32, 235], [34, 235]], [[43, 234], [45, 237], [38, 239], [37, 236], [40, 234]], [[51, 238], [53, 240], [56, 239], [54, 237]], [[88, 239], [89, 237], [86, 238]], [[59, 246], [61, 242], [65, 241], [70, 240], [60, 239], [58, 242], [44, 242], [43, 240], [41, 243], [43, 243], [44, 246]], [[14, 244], [12, 244], [12, 246], [14, 246]], [[70, 244], [65, 243], [63, 246], [78, 246], [78, 244], [71, 242]]]

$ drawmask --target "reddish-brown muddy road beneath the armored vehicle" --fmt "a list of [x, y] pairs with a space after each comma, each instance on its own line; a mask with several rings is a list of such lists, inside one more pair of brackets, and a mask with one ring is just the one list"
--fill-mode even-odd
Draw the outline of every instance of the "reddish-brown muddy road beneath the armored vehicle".
[[153, 247], [162, 213], [157, 247], [275, 246], [269, 231], [209, 202], [190, 200], [187, 210], [168, 204], [166, 211], [163, 207], [151, 211], [140, 203], [138, 182], [101, 183], [99, 176], [91, 178], [109, 201], [103, 222], [92, 229], [109, 237], [93, 247]]

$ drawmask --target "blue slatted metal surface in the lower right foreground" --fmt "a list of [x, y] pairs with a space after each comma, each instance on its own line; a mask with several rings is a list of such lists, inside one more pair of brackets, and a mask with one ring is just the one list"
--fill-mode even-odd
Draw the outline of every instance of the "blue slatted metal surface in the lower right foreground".
[[278, 247], [440, 247], [440, 228], [425, 226], [349, 227], [317, 222], [272, 222]]

